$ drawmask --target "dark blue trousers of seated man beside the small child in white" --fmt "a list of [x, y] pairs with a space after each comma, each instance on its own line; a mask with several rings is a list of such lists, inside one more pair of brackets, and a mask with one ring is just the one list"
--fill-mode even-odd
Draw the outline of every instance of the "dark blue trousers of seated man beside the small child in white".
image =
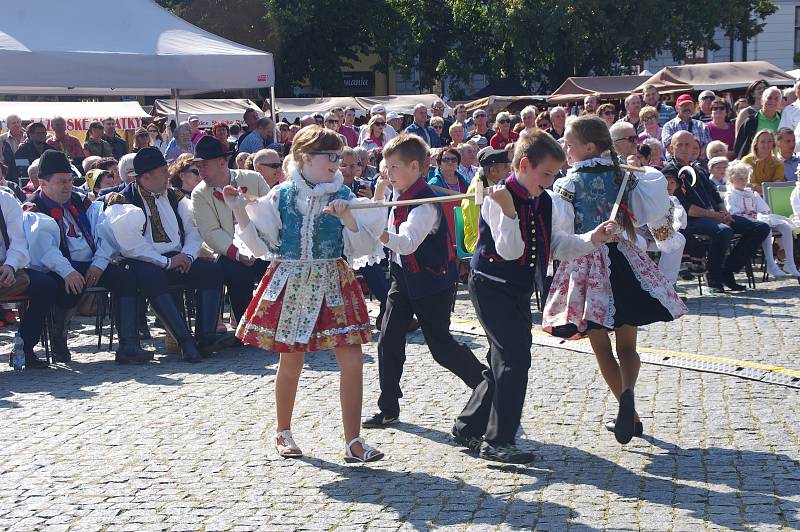
[[[712, 218], [690, 217], [684, 230], [687, 236], [706, 235], [711, 237], [708, 249], [708, 278], [719, 284], [723, 272], [738, 272], [747, 264], [761, 242], [770, 232], [768, 224], [754, 222], [743, 216], [733, 216], [733, 222], [723, 224]], [[734, 235], [740, 235], [739, 242], [731, 250], [727, 259], [725, 253], [730, 247]]]

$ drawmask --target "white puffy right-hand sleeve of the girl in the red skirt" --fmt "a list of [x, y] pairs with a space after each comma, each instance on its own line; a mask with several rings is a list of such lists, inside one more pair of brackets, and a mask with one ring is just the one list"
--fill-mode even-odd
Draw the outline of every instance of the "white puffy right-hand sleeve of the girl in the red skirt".
[[[350, 198], [350, 204], [372, 203], [368, 198]], [[344, 255], [350, 261], [353, 269], [363, 268], [370, 264], [377, 264], [386, 256], [383, 244], [378, 237], [386, 229], [389, 216], [387, 208], [374, 207], [372, 209], [357, 209], [350, 211], [356, 221], [357, 232], [344, 229]]]

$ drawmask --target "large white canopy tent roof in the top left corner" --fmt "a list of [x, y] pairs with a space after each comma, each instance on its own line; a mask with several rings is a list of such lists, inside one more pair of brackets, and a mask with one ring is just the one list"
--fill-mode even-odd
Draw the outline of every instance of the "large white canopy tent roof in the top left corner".
[[164, 95], [275, 83], [272, 54], [150, 0], [39, 0], [3, 9], [0, 94]]

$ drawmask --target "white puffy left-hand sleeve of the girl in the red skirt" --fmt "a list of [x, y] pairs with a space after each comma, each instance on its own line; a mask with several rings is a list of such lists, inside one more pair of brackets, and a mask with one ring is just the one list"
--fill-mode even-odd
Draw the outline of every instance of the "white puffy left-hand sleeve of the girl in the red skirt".
[[283, 227], [279, 207], [280, 187], [273, 187], [266, 196], [245, 207], [250, 223], [236, 226], [236, 236], [244, 242], [254, 257], [270, 260], [281, 245]]

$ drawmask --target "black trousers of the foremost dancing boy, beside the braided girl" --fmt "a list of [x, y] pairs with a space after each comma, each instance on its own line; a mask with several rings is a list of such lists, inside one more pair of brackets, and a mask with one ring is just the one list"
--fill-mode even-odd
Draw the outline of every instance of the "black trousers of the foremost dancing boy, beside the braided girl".
[[458, 416], [462, 437], [514, 443], [531, 367], [531, 294], [470, 273], [469, 293], [489, 340], [489, 367]]

